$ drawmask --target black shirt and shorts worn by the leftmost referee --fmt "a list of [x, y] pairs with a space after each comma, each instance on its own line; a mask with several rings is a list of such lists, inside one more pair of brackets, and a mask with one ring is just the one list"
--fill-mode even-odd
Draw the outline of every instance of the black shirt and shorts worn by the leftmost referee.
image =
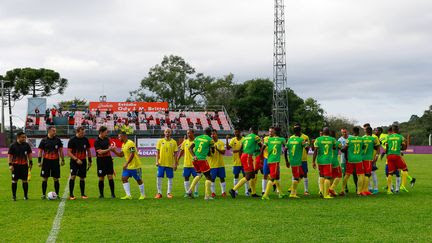
[[12, 180], [23, 180], [26, 181], [28, 177], [28, 154], [31, 154], [32, 150], [30, 145], [26, 142], [18, 143], [14, 142], [9, 147], [8, 154], [12, 156], [12, 166], [14, 168], [12, 172]]

